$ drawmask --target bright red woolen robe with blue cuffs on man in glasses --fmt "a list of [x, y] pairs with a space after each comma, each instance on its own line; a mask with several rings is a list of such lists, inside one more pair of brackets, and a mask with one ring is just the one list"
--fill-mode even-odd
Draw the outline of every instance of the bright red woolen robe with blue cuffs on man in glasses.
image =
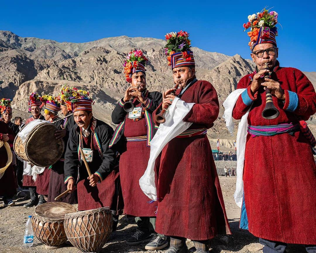
[[[247, 89], [236, 102], [235, 119], [246, 113], [249, 103], [248, 124], [253, 126], [297, 123], [297, 116], [307, 120], [316, 112], [312, 83], [295, 68], [279, 67], [271, 78], [281, 84], [286, 99], [283, 103], [273, 96], [280, 115], [264, 119], [265, 91], [260, 88], [252, 96], [249, 77], [253, 75], [243, 77], [237, 85], [238, 89]], [[243, 182], [248, 229], [253, 235], [290, 244], [316, 244], [316, 167], [301, 132], [256, 137], [247, 134]]]

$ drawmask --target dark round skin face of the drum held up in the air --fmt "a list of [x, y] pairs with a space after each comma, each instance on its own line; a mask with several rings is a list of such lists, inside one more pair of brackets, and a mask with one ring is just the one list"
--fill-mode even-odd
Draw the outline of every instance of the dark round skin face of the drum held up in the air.
[[64, 152], [64, 141], [55, 138], [54, 124], [40, 124], [27, 139], [26, 152], [30, 162], [40, 167], [56, 163]]

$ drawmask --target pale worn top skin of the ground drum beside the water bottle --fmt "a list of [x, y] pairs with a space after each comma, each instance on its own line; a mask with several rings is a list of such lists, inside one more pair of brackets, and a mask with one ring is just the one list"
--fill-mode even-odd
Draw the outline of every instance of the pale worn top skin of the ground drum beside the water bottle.
[[76, 207], [64, 202], [47, 202], [35, 207], [34, 212], [45, 219], [64, 219], [66, 213], [75, 213]]

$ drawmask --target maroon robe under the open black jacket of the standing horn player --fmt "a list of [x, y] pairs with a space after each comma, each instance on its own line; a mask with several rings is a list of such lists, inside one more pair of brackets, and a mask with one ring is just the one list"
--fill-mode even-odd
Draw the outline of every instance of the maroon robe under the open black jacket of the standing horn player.
[[[140, 103], [135, 106], [140, 106]], [[124, 136], [137, 137], [146, 136], [146, 119], [143, 116], [138, 121], [125, 119]], [[150, 147], [147, 146], [147, 139], [143, 141], [124, 142], [123, 152], [119, 160], [119, 171], [124, 199], [124, 213], [139, 216], [155, 216], [157, 204], [152, 203], [139, 186], [139, 179], [143, 176], [148, 160]], [[159, 162], [159, 159], [157, 159]], [[157, 164], [159, 165], [159, 164]], [[158, 169], [155, 166], [155, 183], [158, 183]], [[137, 200], [137, 201], [135, 201]]]

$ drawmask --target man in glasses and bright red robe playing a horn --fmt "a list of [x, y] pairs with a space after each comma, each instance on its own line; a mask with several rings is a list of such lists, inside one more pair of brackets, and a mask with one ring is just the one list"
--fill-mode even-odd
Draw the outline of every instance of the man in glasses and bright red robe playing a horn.
[[[258, 19], [268, 15], [276, 24], [274, 11], [264, 10]], [[303, 120], [316, 112], [316, 93], [301, 71], [280, 67], [276, 27], [264, 23], [257, 28], [258, 19], [250, 17], [252, 33], [258, 32], [249, 43], [256, 70], [238, 83], [237, 89], [245, 90], [232, 113], [237, 120], [248, 113], [240, 227], [259, 237], [264, 253], [283, 253], [288, 243], [316, 245], [316, 166], [312, 139], [301, 130]], [[262, 116], [266, 87], [279, 111], [272, 119]], [[306, 250], [316, 252], [316, 246]]]

